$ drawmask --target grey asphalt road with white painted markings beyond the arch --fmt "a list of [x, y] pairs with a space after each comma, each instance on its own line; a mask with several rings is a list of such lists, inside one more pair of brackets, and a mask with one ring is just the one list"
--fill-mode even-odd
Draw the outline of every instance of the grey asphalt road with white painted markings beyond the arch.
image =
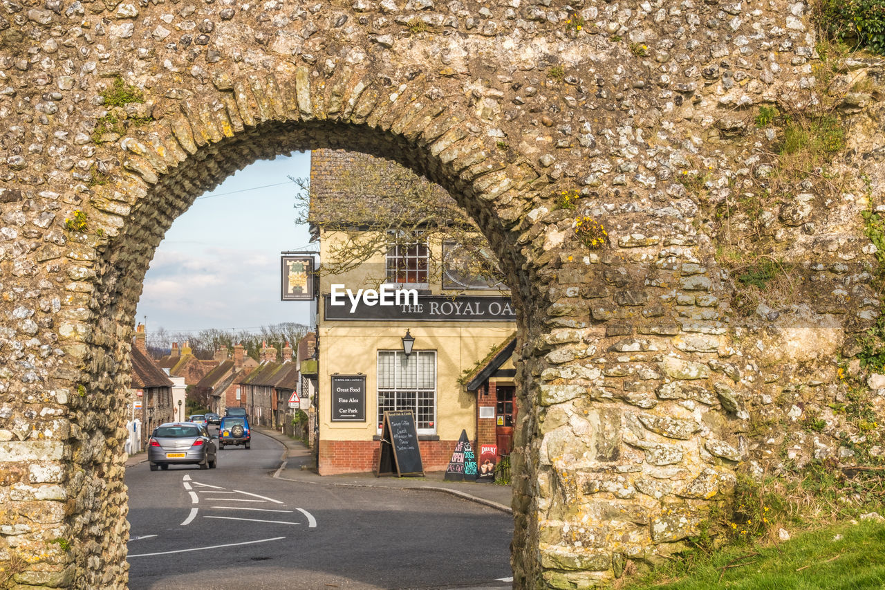
[[218, 468], [127, 470], [129, 587], [510, 587], [512, 516], [445, 493], [271, 477], [282, 446], [219, 450]]

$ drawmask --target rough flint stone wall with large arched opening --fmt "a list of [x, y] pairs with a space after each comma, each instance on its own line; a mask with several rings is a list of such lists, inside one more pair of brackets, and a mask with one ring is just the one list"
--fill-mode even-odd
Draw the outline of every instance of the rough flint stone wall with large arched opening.
[[[438, 182], [501, 260], [521, 355], [514, 586], [604, 584], [681, 548], [738, 465], [776, 467], [784, 433], [751, 436], [754, 420], [826, 412], [835, 353], [879, 314], [859, 219], [881, 206], [881, 167], [862, 163], [881, 159], [872, 101], [852, 102], [858, 139], [834, 165], [866, 170], [868, 194], [831, 201], [811, 183], [754, 213], [788, 260], [812, 263], [795, 305], [735, 314], [714, 257], [708, 206], [771, 168], [752, 116], [815, 100], [814, 46], [807, 4], [776, 0], [4, 0], [12, 583], [126, 586], [128, 352], [150, 258], [201, 192], [316, 147]], [[143, 102], [108, 104], [117, 78]], [[562, 190], [580, 191], [578, 210], [556, 206]], [[579, 244], [576, 213], [612, 244]], [[813, 437], [797, 428], [789, 453], [842, 456], [831, 417]]]

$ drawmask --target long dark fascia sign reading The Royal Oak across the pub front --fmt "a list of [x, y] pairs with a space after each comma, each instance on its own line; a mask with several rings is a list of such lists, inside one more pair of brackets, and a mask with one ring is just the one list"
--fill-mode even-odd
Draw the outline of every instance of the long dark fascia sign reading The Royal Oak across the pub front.
[[[371, 291], [371, 290], [370, 290]], [[404, 298], [405, 299], [405, 298]], [[382, 303], [382, 301], [384, 301]], [[509, 297], [482, 295], [414, 295], [396, 302], [391, 292], [381, 299], [377, 291], [350, 299], [345, 293], [323, 298], [326, 320], [411, 322], [513, 322], [516, 314]]]

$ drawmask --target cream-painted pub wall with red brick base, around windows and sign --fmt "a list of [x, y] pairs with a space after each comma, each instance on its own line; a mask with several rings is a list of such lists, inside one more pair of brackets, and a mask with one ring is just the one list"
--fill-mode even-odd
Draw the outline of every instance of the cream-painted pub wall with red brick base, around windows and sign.
[[[322, 232], [319, 236], [320, 260], [335, 255], [334, 245], [342, 234]], [[431, 244], [431, 260], [440, 260], [442, 245]], [[322, 268], [322, 267], [320, 267]], [[423, 294], [480, 295], [506, 297], [496, 289], [443, 291], [439, 273], [430, 269]], [[472, 441], [477, 436], [477, 399], [467, 392], [464, 377], [487, 358], [497, 345], [510, 338], [516, 330], [512, 321], [419, 321], [419, 320], [346, 320], [329, 321], [325, 317], [324, 299], [332, 284], [343, 284], [354, 293], [360, 289], [377, 289], [385, 276], [385, 257], [376, 256], [358, 268], [339, 275], [323, 275], [319, 279], [319, 471], [321, 474], [348, 471], [369, 471], [376, 465], [380, 446], [378, 421], [378, 357], [379, 351], [403, 351], [402, 338], [409, 330], [415, 338], [413, 353], [435, 353], [435, 420], [430, 431], [419, 429], [422, 461], [425, 470], [441, 470], [451, 450], [466, 431]], [[412, 288], [412, 285], [404, 285]], [[350, 302], [347, 302], [348, 308]], [[342, 423], [332, 420], [332, 377], [364, 375], [366, 377], [366, 421]]]

